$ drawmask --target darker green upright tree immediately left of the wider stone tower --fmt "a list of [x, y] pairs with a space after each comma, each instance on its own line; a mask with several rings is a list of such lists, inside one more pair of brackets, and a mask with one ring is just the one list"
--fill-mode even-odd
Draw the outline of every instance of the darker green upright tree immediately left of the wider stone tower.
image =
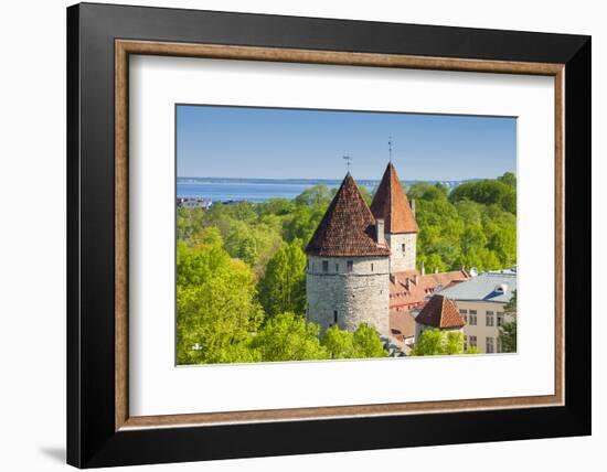
[[306, 255], [296, 239], [269, 259], [259, 280], [259, 301], [269, 317], [283, 312], [302, 314], [306, 307]]

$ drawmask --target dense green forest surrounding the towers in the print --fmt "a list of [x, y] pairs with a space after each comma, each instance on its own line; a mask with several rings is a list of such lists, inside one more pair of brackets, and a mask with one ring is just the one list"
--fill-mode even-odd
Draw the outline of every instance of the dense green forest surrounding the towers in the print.
[[[416, 202], [418, 268], [479, 271], [517, 264], [517, 181], [406, 189]], [[368, 203], [371, 193], [360, 187]], [[178, 208], [178, 363], [381, 357], [376, 332], [305, 322], [303, 248], [336, 189], [315, 185], [292, 201]], [[418, 350], [419, 351], [419, 350]]]

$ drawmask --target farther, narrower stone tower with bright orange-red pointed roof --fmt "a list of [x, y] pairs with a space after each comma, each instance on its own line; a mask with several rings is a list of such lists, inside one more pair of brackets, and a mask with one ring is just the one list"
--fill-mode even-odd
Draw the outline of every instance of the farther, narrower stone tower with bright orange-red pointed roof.
[[371, 212], [375, 218], [385, 222], [385, 239], [391, 250], [390, 273], [415, 270], [417, 224], [392, 162], [375, 192]]

